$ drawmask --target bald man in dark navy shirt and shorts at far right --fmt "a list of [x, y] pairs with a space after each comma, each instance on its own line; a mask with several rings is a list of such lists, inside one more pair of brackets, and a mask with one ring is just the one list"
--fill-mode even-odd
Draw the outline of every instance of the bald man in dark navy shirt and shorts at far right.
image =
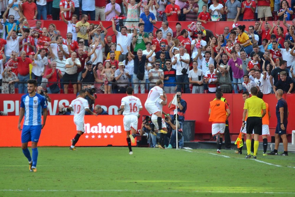
[[275, 149], [272, 152], [268, 153], [269, 155], [278, 154], [278, 145], [280, 144], [281, 136], [283, 140], [284, 152], [280, 155], [288, 156], [288, 140], [286, 137], [286, 130], [288, 124], [289, 110], [286, 100], [282, 98], [283, 93], [284, 92], [282, 89], [278, 89], [276, 91], [276, 98], [278, 100], [276, 105], [276, 117], [278, 119], [278, 123], [275, 131]]

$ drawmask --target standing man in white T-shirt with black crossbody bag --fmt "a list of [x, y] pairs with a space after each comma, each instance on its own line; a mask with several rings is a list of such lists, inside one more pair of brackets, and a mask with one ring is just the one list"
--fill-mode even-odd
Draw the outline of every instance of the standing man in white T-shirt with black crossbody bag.
[[[173, 65], [176, 65], [176, 82], [177, 84], [177, 92], [181, 92], [181, 87], [183, 86], [184, 93], [191, 93], [189, 89], [189, 54], [184, 53], [184, 47], [179, 47], [179, 53], [174, 56], [174, 60], [172, 62]], [[185, 70], [186, 69], [186, 72]], [[182, 84], [185, 83], [185, 84]]]

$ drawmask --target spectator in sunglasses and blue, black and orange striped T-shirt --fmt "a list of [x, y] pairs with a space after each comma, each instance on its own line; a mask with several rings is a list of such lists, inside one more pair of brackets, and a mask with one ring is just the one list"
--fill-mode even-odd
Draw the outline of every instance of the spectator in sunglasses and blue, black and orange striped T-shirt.
[[166, 94], [175, 94], [176, 93], [176, 69], [172, 68], [171, 60], [168, 59], [165, 62], [166, 69], [164, 72], [164, 86], [163, 90]]

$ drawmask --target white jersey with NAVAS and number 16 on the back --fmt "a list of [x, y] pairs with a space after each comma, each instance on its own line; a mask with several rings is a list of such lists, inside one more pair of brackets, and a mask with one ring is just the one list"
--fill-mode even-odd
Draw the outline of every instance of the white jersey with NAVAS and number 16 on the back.
[[123, 97], [121, 106], [124, 106], [123, 115], [138, 115], [139, 109], [142, 108], [139, 98], [135, 96]]

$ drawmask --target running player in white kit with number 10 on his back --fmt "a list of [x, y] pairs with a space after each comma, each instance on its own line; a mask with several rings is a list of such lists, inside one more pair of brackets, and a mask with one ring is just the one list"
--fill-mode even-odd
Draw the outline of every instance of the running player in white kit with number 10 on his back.
[[74, 112], [74, 123], [77, 128], [76, 136], [71, 140], [72, 145], [70, 150], [76, 151], [75, 148], [76, 143], [78, 142], [80, 136], [85, 132], [84, 130], [84, 115], [85, 111], [89, 114], [97, 116], [96, 113], [92, 112], [89, 109], [88, 101], [85, 99], [86, 97], [86, 90], [81, 89], [79, 90], [78, 97], [71, 102], [68, 108], [64, 108], [65, 111], [73, 111]]

